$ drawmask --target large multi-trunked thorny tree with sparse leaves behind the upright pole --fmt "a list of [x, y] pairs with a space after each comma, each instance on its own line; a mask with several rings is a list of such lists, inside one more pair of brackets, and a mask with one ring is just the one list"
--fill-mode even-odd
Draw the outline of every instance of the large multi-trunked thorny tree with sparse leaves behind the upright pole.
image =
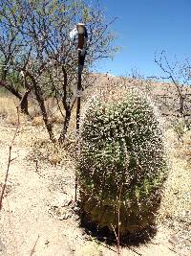
[[22, 58], [13, 54], [11, 69], [22, 71], [25, 83], [32, 88], [52, 140], [46, 99], [54, 97], [63, 106], [63, 141], [76, 98], [77, 53], [75, 41], [69, 38], [70, 31], [82, 22], [89, 32], [85, 77], [96, 60], [109, 58], [116, 51], [112, 46], [114, 35], [109, 32], [113, 21], [107, 24], [99, 5], [90, 7], [83, 0], [3, 0], [0, 16], [24, 44]]

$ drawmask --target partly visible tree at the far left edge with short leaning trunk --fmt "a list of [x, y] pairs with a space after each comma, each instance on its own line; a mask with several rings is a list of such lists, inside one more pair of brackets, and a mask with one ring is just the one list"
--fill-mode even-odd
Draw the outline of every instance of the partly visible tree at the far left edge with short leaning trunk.
[[19, 101], [22, 99], [21, 111], [29, 115], [28, 95], [31, 88], [19, 72], [12, 69], [12, 61], [19, 58], [23, 47], [19, 32], [0, 14], [0, 87], [9, 90]]

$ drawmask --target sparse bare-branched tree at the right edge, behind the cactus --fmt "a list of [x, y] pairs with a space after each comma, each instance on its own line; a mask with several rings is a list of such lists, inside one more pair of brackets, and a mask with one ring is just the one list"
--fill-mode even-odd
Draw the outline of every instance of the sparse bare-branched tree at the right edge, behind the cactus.
[[155, 62], [163, 72], [161, 78], [171, 81], [173, 86], [173, 88], [166, 86], [166, 89], [171, 89], [171, 92], [162, 96], [163, 105], [172, 110], [176, 117], [187, 120], [191, 117], [191, 65], [189, 59], [185, 59], [182, 64], [178, 60], [171, 63], [166, 58], [165, 52], [162, 51], [159, 58], [155, 57]]

